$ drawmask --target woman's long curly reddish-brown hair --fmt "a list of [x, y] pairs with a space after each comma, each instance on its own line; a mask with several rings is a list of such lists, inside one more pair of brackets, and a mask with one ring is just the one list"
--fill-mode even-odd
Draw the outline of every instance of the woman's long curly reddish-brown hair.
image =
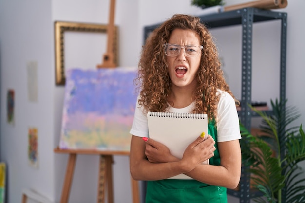
[[[164, 44], [169, 40], [175, 29], [195, 31], [199, 37], [203, 51], [196, 79], [198, 86], [194, 91], [196, 107], [193, 113], [207, 113], [209, 118], [216, 118], [219, 97], [218, 89], [228, 92], [234, 99], [229, 85], [223, 77], [218, 51], [213, 37], [200, 18], [175, 14], [156, 28], [147, 38], [139, 60], [138, 76], [135, 80], [140, 89], [139, 104], [146, 111], [165, 112], [169, 106], [167, 97], [170, 92], [171, 80], [164, 53]], [[238, 102], [235, 99], [236, 102]]]

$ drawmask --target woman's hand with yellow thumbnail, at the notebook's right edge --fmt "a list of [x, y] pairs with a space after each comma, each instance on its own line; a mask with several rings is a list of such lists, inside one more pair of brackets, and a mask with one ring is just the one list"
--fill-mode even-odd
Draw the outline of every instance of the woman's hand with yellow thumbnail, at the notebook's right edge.
[[199, 136], [192, 142], [184, 151], [182, 161], [185, 161], [189, 171], [194, 169], [197, 165], [210, 159], [214, 156], [215, 148], [214, 139], [208, 135], [207, 139]]

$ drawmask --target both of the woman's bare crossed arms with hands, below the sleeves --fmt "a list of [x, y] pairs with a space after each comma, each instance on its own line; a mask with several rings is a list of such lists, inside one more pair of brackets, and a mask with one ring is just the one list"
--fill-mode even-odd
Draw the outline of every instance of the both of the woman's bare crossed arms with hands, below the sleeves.
[[[148, 144], [141, 137], [133, 136], [130, 154], [130, 171], [133, 179], [161, 180], [185, 173], [191, 178], [206, 184], [224, 186], [231, 189], [236, 188], [241, 174], [239, 140], [218, 143], [220, 166], [200, 164], [203, 159], [208, 159], [206, 158], [207, 156], [212, 157], [212, 152], [215, 150], [209, 147], [210, 143], [212, 145], [214, 143], [214, 141], [211, 142], [211, 137], [207, 140], [210, 142], [204, 141], [201, 145], [194, 144], [196, 141], [192, 143], [186, 149], [183, 159], [179, 160], [173, 157], [168, 148], [162, 144], [152, 139], [147, 141], [150, 143]], [[145, 145], [148, 146], [146, 152]], [[192, 146], [197, 146], [197, 148]], [[205, 150], [203, 150], [204, 148]], [[198, 159], [199, 154], [205, 158]], [[149, 157], [150, 161], [148, 161], [147, 157]]]

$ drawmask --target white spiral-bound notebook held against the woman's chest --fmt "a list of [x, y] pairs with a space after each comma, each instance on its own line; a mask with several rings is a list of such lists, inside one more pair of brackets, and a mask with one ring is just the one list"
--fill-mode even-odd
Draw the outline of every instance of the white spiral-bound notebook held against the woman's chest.
[[[149, 137], [167, 146], [181, 159], [184, 150], [204, 132], [208, 136], [208, 116], [200, 113], [148, 112]], [[203, 162], [209, 164], [209, 160]], [[171, 179], [191, 179], [180, 174]]]

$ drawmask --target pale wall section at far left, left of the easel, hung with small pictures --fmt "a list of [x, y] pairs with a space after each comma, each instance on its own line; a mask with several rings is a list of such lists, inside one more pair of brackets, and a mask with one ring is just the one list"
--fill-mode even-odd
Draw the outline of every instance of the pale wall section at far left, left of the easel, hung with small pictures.
[[[0, 0], [1, 161], [7, 164], [8, 202], [25, 187], [53, 198], [53, 30], [51, 1]], [[38, 102], [27, 95], [27, 63], [37, 62]], [[15, 90], [15, 124], [6, 122], [6, 94]], [[28, 128], [38, 128], [39, 168], [27, 162]]]

